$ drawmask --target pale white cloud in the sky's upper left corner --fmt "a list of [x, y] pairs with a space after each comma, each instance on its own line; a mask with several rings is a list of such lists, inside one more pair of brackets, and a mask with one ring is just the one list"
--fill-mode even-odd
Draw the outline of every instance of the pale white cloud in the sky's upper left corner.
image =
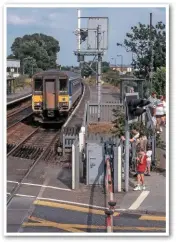
[[29, 25], [35, 22], [36, 20], [31, 17], [19, 16], [16, 14], [9, 14], [7, 16], [7, 23], [12, 25]]

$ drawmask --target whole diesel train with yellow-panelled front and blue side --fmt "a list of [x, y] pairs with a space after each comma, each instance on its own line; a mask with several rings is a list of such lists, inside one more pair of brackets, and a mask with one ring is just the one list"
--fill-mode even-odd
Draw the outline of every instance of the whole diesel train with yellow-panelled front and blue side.
[[81, 75], [69, 71], [43, 71], [33, 76], [32, 83], [32, 109], [40, 123], [60, 122], [83, 91]]

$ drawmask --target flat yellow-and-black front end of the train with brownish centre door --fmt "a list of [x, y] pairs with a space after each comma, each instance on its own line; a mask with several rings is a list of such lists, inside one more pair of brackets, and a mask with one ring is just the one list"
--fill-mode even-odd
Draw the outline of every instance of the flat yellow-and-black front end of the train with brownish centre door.
[[68, 113], [68, 79], [66, 76], [44, 75], [33, 79], [33, 111], [38, 121], [57, 120], [61, 114]]

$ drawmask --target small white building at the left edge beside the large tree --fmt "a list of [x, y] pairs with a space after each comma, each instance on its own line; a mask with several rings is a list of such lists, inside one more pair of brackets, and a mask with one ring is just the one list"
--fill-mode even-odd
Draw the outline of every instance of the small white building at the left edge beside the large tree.
[[20, 69], [20, 60], [7, 59], [7, 76], [18, 77]]

